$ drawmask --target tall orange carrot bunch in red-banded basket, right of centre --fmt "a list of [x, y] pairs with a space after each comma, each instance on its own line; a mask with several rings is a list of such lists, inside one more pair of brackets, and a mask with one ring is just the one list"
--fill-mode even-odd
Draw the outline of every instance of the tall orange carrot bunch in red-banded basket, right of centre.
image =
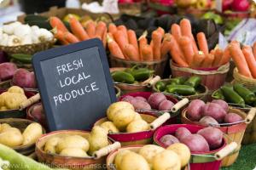
[[230, 61], [230, 53], [227, 50], [214, 48], [209, 52], [207, 38], [203, 32], [196, 35], [196, 43], [190, 21], [187, 19], [181, 20], [179, 25], [173, 24], [171, 32], [170, 54], [177, 65], [195, 69], [212, 68]]

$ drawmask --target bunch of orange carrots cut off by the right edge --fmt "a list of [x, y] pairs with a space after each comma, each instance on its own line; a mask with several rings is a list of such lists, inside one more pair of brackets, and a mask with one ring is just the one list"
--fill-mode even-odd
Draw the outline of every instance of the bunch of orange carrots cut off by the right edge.
[[245, 77], [256, 79], [256, 42], [253, 48], [247, 45], [240, 48], [239, 42], [232, 41], [228, 49], [238, 72]]

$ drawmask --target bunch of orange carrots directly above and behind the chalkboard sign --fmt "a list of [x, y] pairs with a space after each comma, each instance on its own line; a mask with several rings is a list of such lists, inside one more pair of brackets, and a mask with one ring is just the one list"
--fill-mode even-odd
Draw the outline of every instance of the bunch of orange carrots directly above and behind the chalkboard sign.
[[97, 24], [89, 21], [85, 28], [75, 17], [71, 17], [69, 25], [71, 32], [58, 17], [50, 17], [49, 24], [53, 27], [53, 33], [61, 44], [67, 45], [70, 43], [88, 40], [90, 38], [99, 38], [102, 40], [104, 46], [107, 44], [107, 26], [104, 22], [100, 21]]

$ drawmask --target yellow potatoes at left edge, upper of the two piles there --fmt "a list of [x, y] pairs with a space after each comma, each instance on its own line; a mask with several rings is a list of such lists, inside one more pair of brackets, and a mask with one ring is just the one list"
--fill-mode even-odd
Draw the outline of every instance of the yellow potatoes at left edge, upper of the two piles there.
[[12, 86], [7, 92], [0, 94], [0, 111], [18, 109], [20, 104], [26, 99], [26, 95], [22, 88]]

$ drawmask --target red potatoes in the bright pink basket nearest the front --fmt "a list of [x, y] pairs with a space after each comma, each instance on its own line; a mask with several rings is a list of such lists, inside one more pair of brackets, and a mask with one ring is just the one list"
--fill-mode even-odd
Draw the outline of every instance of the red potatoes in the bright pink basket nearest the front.
[[178, 127], [175, 136], [166, 134], [160, 142], [165, 147], [175, 143], [183, 143], [189, 147], [191, 152], [207, 152], [221, 147], [223, 133], [215, 127], [205, 127], [197, 133], [190, 133], [186, 127]]

